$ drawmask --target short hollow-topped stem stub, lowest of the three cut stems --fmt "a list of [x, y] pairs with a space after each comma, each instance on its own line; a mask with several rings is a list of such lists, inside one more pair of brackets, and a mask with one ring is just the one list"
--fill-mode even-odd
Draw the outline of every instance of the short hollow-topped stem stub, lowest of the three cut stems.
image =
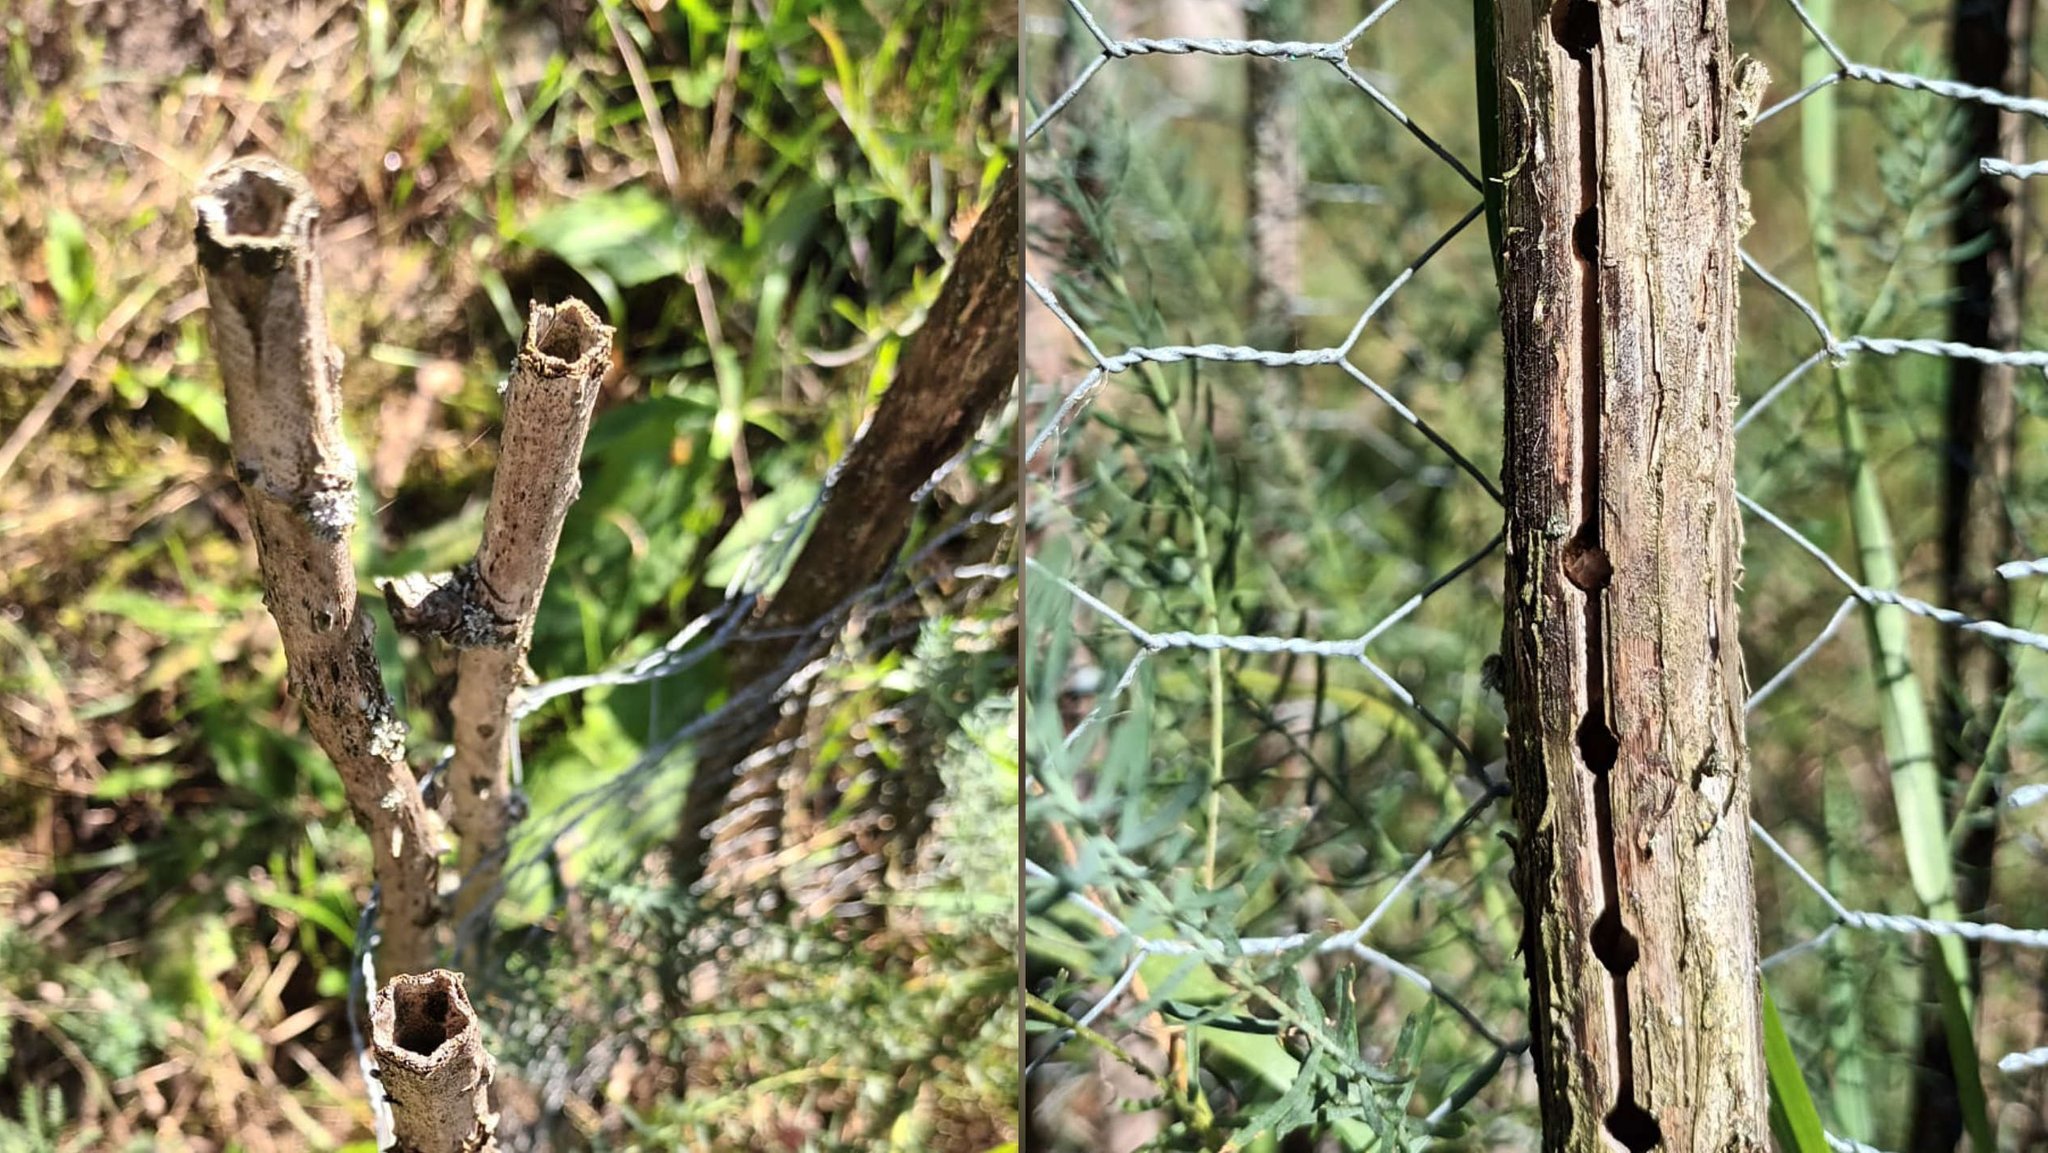
[[498, 1114], [492, 1079], [498, 1063], [483, 1030], [446, 969], [393, 977], [371, 1003], [371, 1057], [391, 1106], [395, 1153], [494, 1153]]

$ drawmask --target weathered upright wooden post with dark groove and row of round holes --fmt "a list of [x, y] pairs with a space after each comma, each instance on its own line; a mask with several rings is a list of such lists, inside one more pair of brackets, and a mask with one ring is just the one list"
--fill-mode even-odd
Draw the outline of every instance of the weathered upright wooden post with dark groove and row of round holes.
[[1769, 1147], [1722, 4], [1497, 0], [1509, 774], [1544, 1149]]

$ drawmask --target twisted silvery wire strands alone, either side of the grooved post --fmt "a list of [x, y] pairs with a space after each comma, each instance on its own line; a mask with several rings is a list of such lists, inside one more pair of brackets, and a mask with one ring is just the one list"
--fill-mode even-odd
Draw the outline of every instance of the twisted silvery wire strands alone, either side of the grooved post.
[[[1141, 70], [1143, 59], [1149, 55], [1190, 55], [1204, 53], [1214, 57], [1241, 57], [1247, 66], [1272, 68], [1274, 63], [1286, 66], [1321, 66], [1335, 68], [1348, 84], [1360, 90], [1372, 100], [1382, 113], [1391, 115], [1409, 135], [1419, 139], [1438, 160], [1446, 164], [1452, 172], [1464, 178], [1470, 186], [1479, 186], [1473, 170], [1458, 162], [1444, 150], [1444, 145], [1425, 133], [1389, 94], [1382, 86], [1364, 82], [1356, 68], [1350, 63], [1350, 51], [1374, 23], [1380, 20], [1399, 0], [1386, 0], [1380, 4], [1362, 25], [1352, 29], [1346, 37], [1337, 41], [1268, 41], [1268, 39], [1223, 39], [1223, 37], [1157, 37], [1157, 39], [1126, 39], [1118, 37], [1114, 31], [1106, 29], [1098, 14], [1092, 10], [1087, 0], [1067, 0], [1067, 8], [1073, 18], [1087, 29], [1096, 45], [1102, 49], [1079, 74], [1067, 82], [1049, 104], [1044, 104], [1026, 129], [1026, 139], [1042, 137], [1053, 123], [1069, 113], [1075, 98], [1096, 82], [1108, 68], [1120, 70]], [[1767, 121], [1788, 109], [1798, 106], [1802, 100], [1810, 98], [1823, 88], [1860, 82], [1870, 86], [1931, 92], [1946, 100], [1978, 102], [2028, 117], [2048, 119], [2048, 100], [2032, 96], [2015, 96], [2007, 92], [1997, 92], [1980, 86], [1958, 84], [1935, 76], [1917, 76], [1911, 72], [1898, 72], [1888, 68], [1876, 68], [1862, 63], [1845, 55], [1833, 39], [1812, 20], [1810, 12], [1800, 4], [1800, 0], [1788, 0], [1794, 14], [1802, 23], [1808, 35], [1812, 35], [1819, 45], [1833, 57], [1835, 70], [1823, 80], [1808, 84], [1794, 92], [1792, 96], [1772, 104], [1757, 121]], [[1137, 78], [1143, 84], [1143, 78]], [[1370, 111], [1360, 111], [1358, 115], [1372, 115]], [[1991, 176], [2005, 178], [2030, 178], [2048, 172], [2048, 164], [2025, 164], [2015, 166], [2003, 160], [1982, 160], [1982, 172]], [[1194, 344], [1174, 344], [1174, 346], [1130, 346], [1120, 350], [1106, 350], [1098, 344], [1096, 336], [1087, 326], [1079, 324], [1069, 307], [1063, 305], [1059, 293], [1051, 285], [1042, 283], [1038, 276], [1028, 276], [1026, 287], [1030, 295], [1030, 307], [1036, 309], [1038, 319], [1051, 319], [1057, 330], [1069, 334], [1075, 344], [1085, 352], [1087, 367], [1077, 383], [1065, 387], [1055, 401], [1047, 408], [1051, 410], [1032, 440], [1026, 446], [1026, 461], [1032, 465], [1049, 465], [1059, 457], [1065, 440], [1079, 428], [1087, 414], [1100, 405], [1104, 391], [1110, 389], [1124, 373], [1139, 365], [1176, 365], [1186, 360], [1212, 360], [1212, 362], [1235, 362], [1235, 365], [1260, 365], [1274, 371], [1296, 371], [1315, 367], [1339, 367], [1346, 375], [1358, 381], [1378, 403], [1386, 408], [1395, 418], [1399, 418], [1409, 428], [1417, 430], [1427, 438], [1446, 461], [1460, 473], [1479, 481], [1479, 485], [1497, 502], [1499, 489], [1493, 479], [1473, 465], [1470, 453], [1460, 451], [1450, 440], [1446, 440], [1427, 420], [1415, 414], [1415, 410], [1401, 399], [1397, 399], [1389, 389], [1374, 383], [1364, 369], [1354, 360], [1356, 346], [1362, 334], [1368, 330], [1374, 313], [1403, 287], [1413, 274], [1427, 264], [1442, 246], [1452, 240], [1460, 229], [1464, 229], [1473, 219], [1477, 219], [1481, 207], [1473, 207], [1448, 233], [1444, 233], [1436, 244], [1421, 252], [1397, 281], [1384, 287], [1384, 291], [1358, 315], [1350, 330], [1350, 336], [1337, 346], [1323, 348], [1257, 348], [1235, 342], [1194, 342]], [[1743, 266], [1753, 274], [1755, 283], [1782, 297], [1794, 309], [1798, 309], [1812, 326], [1817, 334], [1817, 346], [1810, 354], [1802, 356], [1788, 373], [1784, 373], [1769, 389], [1765, 389], [1741, 416], [1737, 430], [1747, 430], [1755, 420], [1778, 403], [1784, 395], [1798, 389], [1808, 373], [1821, 362], [1841, 365], [1860, 356], [1931, 356], [1948, 360], [1974, 360], [1982, 365], [2001, 365], [2017, 369], [2034, 379], [2034, 383], [2048, 383], [2048, 350], [2038, 348], [1978, 348], [1970, 344], [1958, 344], [1939, 338], [1917, 338], [1917, 336], [1892, 336], [1892, 334], [1849, 334], [1841, 336], [1831, 330], [1821, 309], [1806, 301], [1798, 291], [1794, 291], [1784, 279], [1776, 276], [1751, 254], [1743, 254]], [[1036, 340], [1036, 336], [1034, 336]], [[1051, 494], [1040, 494], [1042, 500], [1055, 500]], [[1855, 580], [1845, 565], [1835, 561], [1825, 549], [1821, 549], [1810, 537], [1800, 532], [1788, 518], [1772, 512], [1747, 494], [1739, 496], [1743, 508], [1749, 516], [1763, 522], [1765, 526], [1782, 532], [1792, 541], [1806, 557], [1810, 557], [1833, 582], [1837, 582], [1847, 596], [1833, 610], [1825, 629], [1812, 641], [1808, 641], [1784, 668], [1776, 670], [1757, 688], [1747, 709], [1753, 711], [1757, 704], [1767, 700], [1772, 694], [1782, 690], [1792, 678], [1808, 666], [1808, 661], [1835, 639], [1851, 614], [1860, 608], [1870, 606], [1896, 606], [1919, 618], [1931, 621], [1946, 629], [1956, 629], [1964, 633], [1974, 633], [1978, 637], [2003, 643], [2021, 645], [2032, 649], [2048, 649], [2048, 635], [2023, 629], [2005, 621], [1976, 618], [1966, 612], [1931, 604], [1921, 598], [1907, 596], [1892, 588], [1872, 588], [1866, 582]], [[1124, 698], [1139, 682], [1141, 670], [1149, 668], [1161, 659], [1174, 659], [1176, 655], [1192, 653], [1253, 653], [1253, 655], [1292, 655], [1307, 659], [1333, 659], [1333, 661], [1356, 661], [1366, 668], [1380, 688], [1397, 700], [1403, 709], [1411, 711], [1419, 721], [1436, 729], [1438, 733], [1450, 737], [1454, 748], [1458, 748], [1466, 758], [1470, 750], [1458, 741], [1458, 737], [1442, 725], [1430, 711], [1419, 704], [1417, 696], [1403, 686], [1399, 680], [1391, 678], [1380, 666], [1368, 657], [1368, 649], [1378, 641], [1389, 629], [1401, 625], [1425, 598], [1440, 592], [1446, 584], [1466, 575], [1473, 567], [1491, 555], [1499, 547], [1499, 537], [1495, 537], [1483, 551], [1475, 553], [1466, 563], [1458, 565], [1454, 571], [1446, 573], [1438, 582], [1430, 584], [1423, 592], [1399, 606], [1391, 606], [1382, 621], [1362, 635], [1352, 637], [1305, 637], [1305, 635], [1235, 635], [1235, 633], [1194, 633], [1186, 629], [1157, 629], [1141, 621], [1133, 621], [1126, 612], [1112, 606], [1104, 596], [1083, 588], [1077, 580], [1057, 573], [1038, 561], [1026, 563], [1026, 582], [1051, 582], [1057, 586], [1067, 604], [1079, 618], [1094, 621], [1096, 627], [1108, 629], [1114, 635], [1133, 645], [1130, 657], [1122, 664], [1116, 674], [1116, 682], [1108, 692], [1094, 694], [1094, 707], [1073, 723], [1067, 733], [1065, 745], [1071, 750], [1085, 733], [1098, 729], [1110, 717], [1120, 715], [1124, 709]], [[1999, 567], [1999, 575], [2005, 580], [2021, 580], [2030, 575], [2048, 575], [2048, 559], [2013, 559]], [[1221, 721], [1219, 721], [1221, 723]], [[1485, 791], [1479, 801], [1456, 821], [1456, 829], [1464, 829], [1470, 821], [1487, 813], [1497, 797], [1499, 788]], [[2017, 784], [2009, 791], [2003, 805], [2023, 807], [2040, 801], [2048, 801], [2048, 784]], [[1831, 940], [1837, 932], [1870, 932], [1870, 934], [1890, 934], [1903, 938], [1917, 936], [1954, 936], [1974, 942], [1997, 942], [2013, 948], [2048, 948], [2048, 930], [2028, 928], [2028, 926], [2007, 926], [1989, 920], [1972, 922], [1946, 922], [1929, 920], [1919, 915], [1901, 915], [1876, 909], [1851, 909], [1839, 901], [1810, 870], [1806, 870], [1798, 858], [1786, 850], [1763, 825], [1751, 821], [1751, 831], [1757, 842], [1780, 860], [1804, 887], [1812, 893], [1827, 920], [1810, 936], [1800, 940], [1790, 948], [1782, 948], [1763, 960], [1765, 969], [1784, 965], [1804, 952], [1815, 950], [1823, 942]], [[1128, 999], [1130, 989], [1137, 981], [1139, 967], [1143, 960], [1153, 956], [1202, 956], [1210, 960], [1225, 960], [1229, 956], [1294, 956], [1311, 958], [1325, 954], [1350, 954], [1376, 967], [1395, 979], [1425, 989], [1432, 997], [1440, 999], [1452, 1008], [1458, 1018], [1491, 1044], [1495, 1059], [1483, 1063], [1475, 1073], [1477, 1085], [1460, 1085], [1456, 1094], [1446, 1096], [1438, 1102], [1430, 1114], [1427, 1122], [1440, 1122], [1458, 1108], [1464, 1108], [1477, 1092], [1507, 1065], [1509, 1059], [1524, 1053], [1528, 1047], [1526, 1038], [1503, 1038], [1501, 1032], [1485, 1022], [1477, 1012], [1473, 1012], [1454, 991], [1448, 991], [1440, 981], [1432, 979], [1421, 969], [1397, 960], [1386, 952], [1380, 952], [1368, 944], [1374, 932], [1376, 917], [1391, 903], [1403, 897], [1415, 895], [1415, 885], [1423, 879], [1430, 866], [1436, 862], [1436, 852], [1444, 842], [1438, 842], [1430, 850], [1421, 852], [1411, 860], [1411, 866], [1386, 889], [1372, 915], [1360, 920], [1352, 926], [1331, 928], [1327, 932], [1315, 934], [1290, 934], [1278, 938], [1245, 938], [1235, 942], [1214, 940], [1202, 932], [1182, 932], [1178, 936], [1163, 936], [1159, 930], [1151, 934], [1135, 932], [1118, 913], [1106, 907], [1100, 899], [1083, 891], [1083, 887], [1071, 883], [1061, 870], [1049, 868], [1044, 862], [1026, 862], [1028, 885], [1053, 887], [1061, 893], [1061, 901], [1081, 909], [1094, 917], [1102, 930], [1122, 946], [1124, 963], [1114, 971], [1096, 975], [1106, 981], [1100, 985], [1096, 999], [1081, 1014], [1075, 1016], [1079, 1028], [1087, 1028], [1100, 1022], [1106, 1014]], [[2019, 1073], [2023, 1069], [2048, 1067], [2048, 1049], [2036, 1049], [2028, 1053], [2007, 1055], [1999, 1069], [2005, 1073]], [[1858, 1151], [1858, 1153], [1880, 1153], [1870, 1145], [1860, 1141], [1829, 1135], [1829, 1145], [1833, 1149]]]

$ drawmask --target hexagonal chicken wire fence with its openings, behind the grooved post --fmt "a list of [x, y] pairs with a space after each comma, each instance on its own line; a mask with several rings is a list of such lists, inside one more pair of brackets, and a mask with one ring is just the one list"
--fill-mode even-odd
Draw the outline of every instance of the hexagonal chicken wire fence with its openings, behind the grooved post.
[[[1384, 0], [1307, 39], [1343, 16], [1284, 0], [1026, 4], [1026, 1069], [1042, 1147], [1298, 1128], [1346, 1147], [1417, 1133], [1536, 1143], [1501, 838], [1513, 821], [1487, 688], [1501, 393], [1481, 180], [1458, 160], [1477, 156], [1470, 14], [1425, 8]], [[1921, 57], [1858, 61], [1800, 0], [1745, 12], [1739, 47], [1747, 35], [1810, 53], [1804, 84], [1774, 80], [1790, 94], [1757, 115], [1745, 180], [1761, 221], [1743, 254], [1737, 369], [1755, 399], [1737, 457], [1745, 647], [1761, 680], [1747, 711], [1763, 969], [1841, 1130], [1829, 1143], [1872, 1149], [1862, 1141], [1892, 1122], [1858, 1098], [1911, 1085], [1919, 1055], [1884, 1038], [1911, 1038], [1898, 1022], [1919, 1020], [1933, 938], [1980, 950], [1991, 1098], [2023, 1114], [2048, 1096], [2048, 913], [2025, 895], [2048, 866], [2025, 823], [2048, 799], [2025, 780], [2048, 733], [2007, 727], [2011, 702], [2042, 692], [2017, 659], [1997, 725], [2009, 786], [1991, 795], [2007, 821], [1999, 901], [1925, 915], [1896, 846], [1849, 846], [1896, 842], [1898, 817], [1868, 752], [1878, 690], [1847, 625], [1903, 612], [1923, 639], [1946, 629], [2019, 655], [2048, 635], [2032, 610], [1972, 616], [1837, 561], [1855, 555], [1845, 498], [1862, 451], [1806, 424], [1831, 412], [1825, 371], [1907, 360], [2009, 369], [2019, 420], [2038, 420], [2048, 352], [1831, 326], [1815, 289], [1774, 270], [1810, 260], [1808, 221], [1788, 225], [1772, 203], [1796, 207], [1798, 188], [1755, 172], [1802, 145], [1772, 121], [1845, 86], [1870, 96], [1868, 115], [1905, 123], [1874, 150], [1939, 168], [1927, 195], [1952, 205], [1970, 182], [1958, 166], [2011, 182], [2042, 172], [1962, 156], [1952, 111], [2034, 123], [2048, 102], [1944, 80]], [[1237, 35], [1178, 35], [1196, 29]], [[1796, 76], [1792, 59], [1774, 72]], [[1292, 121], [1257, 92], [1274, 72], [1292, 86], [1278, 102]], [[1933, 143], [1911, 152], [1917, 123]], [[1260, 166], [1288, 152], [1303, 170], [1274, 193]], [[1880, 158], [1876, 180], [1890, 188], [1907, 160]], [[1931, 229], [1950, 215], [1913, 219], [1892, 248], [1939, 248]], [[1280, 317], [1257, 303], [1270, 221], [1311, 254]], [[1886, 233], [1882, 213], [1866, 231]], [[1759, 246], [1786, 258], [1759, 260]], [[1913, 274], [1894, 252], [1880, 293]], [[1923, 311], [1939, 303], [1917, 289]], [[1901, 475], [1937, 457], [1917, 428], [1939, 416], [1903, 410], [1907, 391], [1876, 418], [1890, 453], [1878, 463]], [[2048, 573], [2028, 547], [2038, 508], [2021, 481], [1999, 502], [2013, 553], [1980, 575], [2023, 604], [2025, 580]], [[1892, 997], [1858, 1034], [1872, 991]], [[1894, 1069], [1866, 1067], [1845, 1049], [1855, 1036]]]

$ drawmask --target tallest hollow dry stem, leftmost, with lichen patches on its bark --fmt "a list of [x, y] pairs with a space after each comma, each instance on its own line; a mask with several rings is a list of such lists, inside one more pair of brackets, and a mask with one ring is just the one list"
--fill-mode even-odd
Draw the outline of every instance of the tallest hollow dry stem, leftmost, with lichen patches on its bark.
[[342, 440], [342, 354], [328, 344], [319, 289], [319, 201], [291, 168], [246, 158], [207, 174], [193, 207], [264, 604], [305, 725], [375, 848], [379, 963], [418, 973], [434, 954], [438, 852], [406, 766], [406, 725], [377, 670], [375, 627], [356, 604], [356, 461]]

